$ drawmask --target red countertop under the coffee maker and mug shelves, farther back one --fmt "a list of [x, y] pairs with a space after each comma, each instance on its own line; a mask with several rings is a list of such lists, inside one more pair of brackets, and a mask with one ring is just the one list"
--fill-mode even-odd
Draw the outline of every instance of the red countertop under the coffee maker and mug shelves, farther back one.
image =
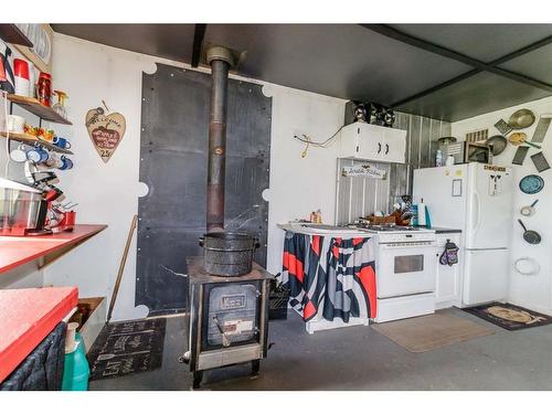
[[104, 224], [77, 224], [72, 232], [47, 236], [0, 236], [0, 273], [83, 242], [106, 227]]

